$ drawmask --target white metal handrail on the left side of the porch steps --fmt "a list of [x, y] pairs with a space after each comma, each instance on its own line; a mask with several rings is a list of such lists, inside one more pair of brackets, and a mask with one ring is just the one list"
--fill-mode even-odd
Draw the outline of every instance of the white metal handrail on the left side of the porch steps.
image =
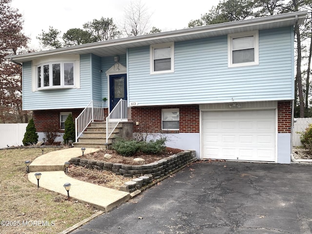
[[106, 103], [91, 100], [86, 108], [75, 119], [76, 142], [83, 131], [94, 120], [104, 120], [104, 107]]

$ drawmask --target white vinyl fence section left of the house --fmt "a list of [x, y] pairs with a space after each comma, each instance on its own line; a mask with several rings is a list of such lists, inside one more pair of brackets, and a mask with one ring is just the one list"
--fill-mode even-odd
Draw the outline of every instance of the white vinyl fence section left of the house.
[[0, 148], [22, 145], [27, 123], [1, 123]]

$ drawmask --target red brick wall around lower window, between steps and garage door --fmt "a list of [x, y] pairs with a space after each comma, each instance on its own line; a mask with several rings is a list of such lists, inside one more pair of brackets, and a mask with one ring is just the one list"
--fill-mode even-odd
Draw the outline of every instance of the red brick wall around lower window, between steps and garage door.
[[[161, 131], [161, 109], [179, 109], [179, 130]], [[134, 133], [199, 133], [199, 106], [177, 105], [177, 106], [150, 106], [132, 107], [131, 117], [134, 121]], [[139, 122], [136, 125], [136, 122]]]

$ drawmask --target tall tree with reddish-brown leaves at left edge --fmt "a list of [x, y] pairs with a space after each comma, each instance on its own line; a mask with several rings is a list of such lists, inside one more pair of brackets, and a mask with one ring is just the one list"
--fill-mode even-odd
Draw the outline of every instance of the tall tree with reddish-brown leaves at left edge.
[[28, 122], [28, 112], [22, 111], [21, 64], [6, 56], [20, 53], [28, 38], [22, 34], [23, 19], [11, 0], [0, 0], [0, 122]]

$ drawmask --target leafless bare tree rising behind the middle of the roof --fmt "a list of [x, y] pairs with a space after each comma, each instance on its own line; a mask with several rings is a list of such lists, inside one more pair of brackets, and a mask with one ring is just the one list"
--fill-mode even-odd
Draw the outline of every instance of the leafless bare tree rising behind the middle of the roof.
[[148, 8], [141, 0], [131, 1], [125, 7], [123, 31], [128, 37], [143, 35], [149, 31], [150, 18]]

